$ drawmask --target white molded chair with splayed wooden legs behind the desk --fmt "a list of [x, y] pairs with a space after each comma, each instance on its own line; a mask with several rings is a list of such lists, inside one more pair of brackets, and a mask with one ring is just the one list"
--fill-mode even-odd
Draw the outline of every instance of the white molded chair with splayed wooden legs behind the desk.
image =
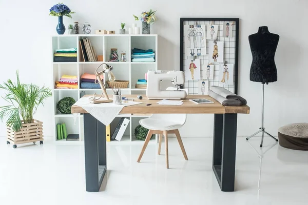
[[149, 118], [141, 119], [139, 121], [140, 125], [149, 129], [149, 132], [145, 138], [144, 145], [142, 147], [141, 153], [138, 157], [137, 162], [140, 162], [142, 155], [150, 141], [152, 134], [159, 134], [159, 147], [158, 155], [161, 152], [162, 145], [162, 135], [165, 136], [165, 152], [166, 152], [166, 165], [169, 169], [169, 157], [168, 157], [168, 133], [176, 134], [178, 142], [180, 144], [181, 150], [183, 152], [185, 160], [188, 160], [183, 142], [179, 133], [179, 128], [181, 128], [186, 121], [186, 114], [152, 114]]

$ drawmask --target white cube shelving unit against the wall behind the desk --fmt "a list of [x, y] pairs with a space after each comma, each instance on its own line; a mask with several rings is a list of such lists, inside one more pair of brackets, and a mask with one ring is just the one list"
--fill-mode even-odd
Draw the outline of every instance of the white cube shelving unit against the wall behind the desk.
[[[103, 55], [104, 61], [94, 61], [94, 62], [84, 62], [82, 58], [82, 52], [79, 45], [79, 40], [83, 38], [89, 38], [92, 46], [94, 47], [97, 55]], [[53, 62], [53, 53], [56, 49], [67, 49], [67, 48], [77, 48], [77, 62]], [[126, 53], [126, 62], [108, 62], [109, 54], [111, 48], [117, 48], [119, 57], [121, 57], [121, 52]], [[133, 48], [139, 49], [153, 49], [155, 51], [155, 62], [131, 62], [131, 50]], [[101, 89], [82, 89], [80, 88], [80, 76], [87, 73], [94, 73], [95, 69], [102, 63], [112, 65], [113, 74], [117, 80], [129, 80], [128, 88], [122, 89], [122, 95], [125, 94], [141, 94], [145, 96], [145, 89], [136, 89], [134, 85], [138, 79], [143, 79], [144, 74], [148, 70], [158, 70], [158, 35], [97, 35], [97, 34], [88, 34], [88, 35], [55, 35], [52, 36], [52, 80], [53, 84], [56, 80], [59, 80], [63, 74], [67, 75], [77, 75], [78, 78], [78, 89], [53, 89], [53, 101], [54, 101], [54, 140], [57, 142], [63, 143], [76, 143], [78, 141], [66, 141], [66, 140], [57, 140], [56, 138], [56, 124], [59, 122], [65, 122], [67, 127], [68, 134], [79, 134], [79, 141], [84, 140], [84, 131], [83, 131], [83, 115], [80, 114], [76, 118], [72, 114], [62, 114], [56, 109], [57, 102], [64, 97], [72, 97], [76, 101], [80, 98], [82, 91], [85, 94], [101, 94]], [[105, 80], [108, 80], [108, 76], [104, 75], [104, 83], [107, 87], [107, 93], [112, 94], [110, 88], [106, 84]], [[129, 129], [126, 129], [124, 136], [121, 141], [110, 141], [111, 144], [125, 144], [132, 142], [143, 142], [137, 140], [134, 136], [134, 129], [139, 125], [139, 120], [141, 118], [146, 118], [145, 115], [130, 115], [130, 114], [120, 114], [118, 115], [113, 122], [111, 123], [111, 134], [115, 126], [118, 124], [120, 117], [129, 117]], [[152, 139], [152, 142], [155, 142], [156, 139]]]

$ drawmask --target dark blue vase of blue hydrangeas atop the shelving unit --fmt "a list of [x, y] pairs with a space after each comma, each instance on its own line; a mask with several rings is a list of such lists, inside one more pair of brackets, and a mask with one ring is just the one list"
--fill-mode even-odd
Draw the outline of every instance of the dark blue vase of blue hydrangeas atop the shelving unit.
[[59, 3], [59, 4], [56, 4], [56, 5], [53, 5], [53, 7], [51, 7], [49, 9], [49, 15], [51, 16], [58, 16], [58, 24], [55, 28], [56, 32], [58, 34], [64, 34], [65, 32], [65, 26], [63, 24], [63, 16], [67, 16], [69, 18], [72, 18], [71, 14], [72, 13], [75, 13], [73, 11], [70, 10], [70, 8], [68, 8], [68, 6], [62, 4], [62, 3]]

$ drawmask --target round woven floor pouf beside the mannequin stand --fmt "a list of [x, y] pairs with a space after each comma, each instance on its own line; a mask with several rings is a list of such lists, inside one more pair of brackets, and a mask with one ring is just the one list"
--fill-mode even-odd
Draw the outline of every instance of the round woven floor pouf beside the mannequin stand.
[[295, 123], [278, 129], [279, 145], [293, 150], [308, 150], [308, 123]]

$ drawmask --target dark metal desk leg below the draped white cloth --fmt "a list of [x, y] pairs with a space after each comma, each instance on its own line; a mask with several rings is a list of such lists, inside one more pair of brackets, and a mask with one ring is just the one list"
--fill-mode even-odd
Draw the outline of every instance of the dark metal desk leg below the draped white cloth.
[[[105, 125], [84, 114], [86, 191], [98, 192], [106, 173]], [[103, 132], [103, 133], [102, 133]]]

